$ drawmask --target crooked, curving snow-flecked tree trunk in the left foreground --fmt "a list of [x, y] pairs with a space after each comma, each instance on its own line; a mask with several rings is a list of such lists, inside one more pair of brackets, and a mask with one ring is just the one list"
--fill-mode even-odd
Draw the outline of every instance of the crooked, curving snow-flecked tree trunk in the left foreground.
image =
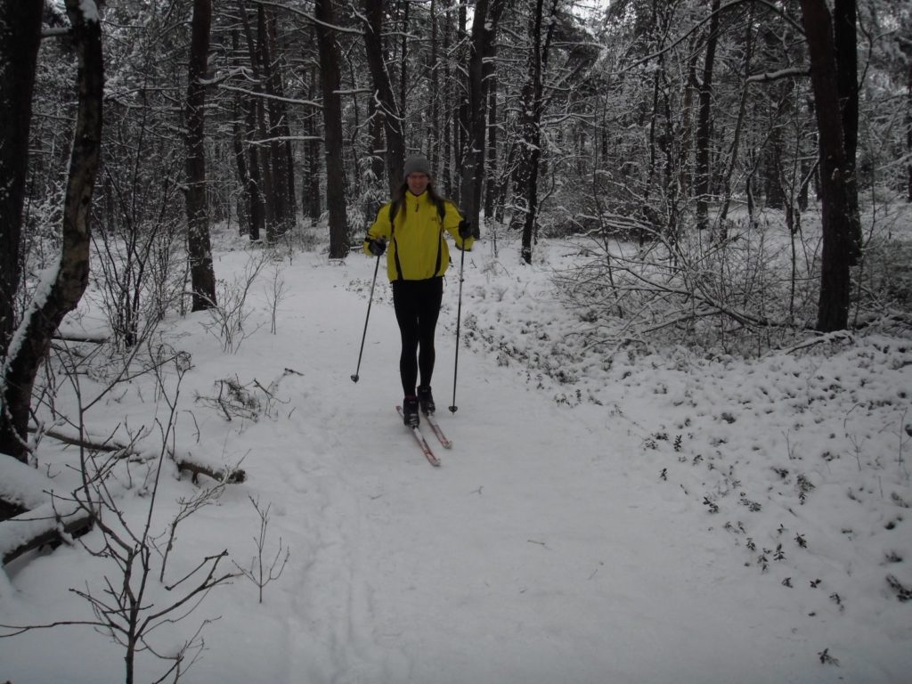
[[0, 412], [0, 451], [19, 461], [27, 458], [28, 412], [38, 368], [47, 357], [51, 336], [60, 321], [76, 308], [88, 285], [88, 222], [98, 176], [104, 62], [97, 14], [88, 8], [84, 11], [79, 0], [67, 0], [67, 14], [78, 57], [78, 111], [64, 198], [60, 258], [57, 268], [49, 272], [46, 285], [37, 288], [26, 309], [16, 332], [18, 343], [7, 350], [0, 379], [5, 405]]

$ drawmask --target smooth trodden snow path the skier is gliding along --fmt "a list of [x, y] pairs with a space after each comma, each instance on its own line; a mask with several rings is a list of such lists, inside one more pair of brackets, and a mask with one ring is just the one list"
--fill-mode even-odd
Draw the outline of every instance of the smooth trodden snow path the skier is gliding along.
[[[315, 265], [323, 277], [285, 302], [279, 333], [318, 334], [306, 335], [300, 358], [264, 352], [264, 362], [303, 373], [283, 380], [290, 418], [251, 427], [263, 449], [244, 461], [264, 501], [287, 502], [275, 513], [293, 557], [279, 588], [266, 590], [267, 604], [295, 605], [295, 618], [276, 626], [283, 680], [817, 680], [809, 671], [829, 680], [809, 662], [819, 648], [784, 625], [779, 636], [758, 634], [744, 618], [769, 624], [767, 598], [778, 606], [781, 596], [745, 582], [731, 546], [695, 522], [705, 513], [683, 497], [650, 504], [656, 482], [637, 474], [641, 435], [624, 419], [561, 408], [471, 353], [460, 358], [459, 410], [447, 411], [446, 321], [434, 387], [455, 447], [438, 445], [443, 465], [430, 467], [393, 409], [399, 334], [385, 284], [361, 379], [349, 379], [364, 321], [336, 312], [352, 310], [358, 295], [342, 285], [369, 283], [371, 265]], [[446, 296], [456, 296], [452, 283]], [[311, 367], [332, 379], [309, 381]], [[219, 628], [233, 620], [212, 627], [214, 643]], [[206, 661], [196, 668], [205, 681]]]

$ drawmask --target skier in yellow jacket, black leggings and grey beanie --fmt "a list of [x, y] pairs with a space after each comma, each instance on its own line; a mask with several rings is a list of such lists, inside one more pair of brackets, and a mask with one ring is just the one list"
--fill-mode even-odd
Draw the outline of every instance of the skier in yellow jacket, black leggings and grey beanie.
[[430, 162], [423, 155], [405, 161], [403, 182], [392, 201], [380, 207], [364, 241], [366, 254], [387, 251], [393, 308], [402, 336], [399, 376], [405, 424], [418, 427], [419, 408], [434, 412], [430, 378], [434, 372], [434, 330], [443, 298], [443, 274], [450, 265], [444, 231], [459, 249], [472, 249], [472, 227], [455, 205], [431, 184]]

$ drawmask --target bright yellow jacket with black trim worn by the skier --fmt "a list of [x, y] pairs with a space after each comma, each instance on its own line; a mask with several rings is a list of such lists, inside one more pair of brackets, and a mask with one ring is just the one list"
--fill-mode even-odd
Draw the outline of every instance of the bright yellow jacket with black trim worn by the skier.
[[443, 275], [450, 265], [450, 249], [443, 231], [450, 233], [459, 249], [472, 249], [472, 238], [459, 236], [462, 216], [452, 202], [443, 201], [446, 209], [443, 221], [437, 205], [428, 192], [413, 195], [405, 192], [393, 223], [389, 223], [387, 202], [377, 213], [377, 220], [368, 228], [364, 252], [370, 254], [368, 241], [384, 238], [387, 241], [387, 274], [394, 280], [427, 280]]

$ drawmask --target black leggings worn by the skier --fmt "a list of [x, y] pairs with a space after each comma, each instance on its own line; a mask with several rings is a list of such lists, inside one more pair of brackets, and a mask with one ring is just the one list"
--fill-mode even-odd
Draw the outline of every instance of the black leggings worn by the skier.
[[393, 308], [402, 336], [399, 376], [403, 394], [410, 397], [415, 394], [419, 372], [422, 386], [430, 386], [434, 372], [434, 330], [443, 300], [443, 278], [394, 280], [392, 285]]

